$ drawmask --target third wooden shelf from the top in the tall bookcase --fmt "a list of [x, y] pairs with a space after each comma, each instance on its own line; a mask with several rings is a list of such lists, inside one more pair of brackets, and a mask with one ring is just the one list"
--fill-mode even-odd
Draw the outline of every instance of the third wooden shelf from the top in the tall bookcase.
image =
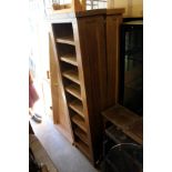
[[80, 84], [79, 74], [75, 70], [68, 70], [62, 72], [62, 75], [70, 79], [71, 81]]

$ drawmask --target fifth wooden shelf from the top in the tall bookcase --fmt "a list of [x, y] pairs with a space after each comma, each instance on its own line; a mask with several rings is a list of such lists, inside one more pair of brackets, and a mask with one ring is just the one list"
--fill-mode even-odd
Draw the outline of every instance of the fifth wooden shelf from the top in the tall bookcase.
[[84, 119], [83, 105], [79, 100], [70, 102], [69, 107]]

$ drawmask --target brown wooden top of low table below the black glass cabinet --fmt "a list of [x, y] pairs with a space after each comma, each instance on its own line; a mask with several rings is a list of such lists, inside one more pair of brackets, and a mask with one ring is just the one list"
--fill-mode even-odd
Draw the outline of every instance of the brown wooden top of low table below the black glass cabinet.
[[[102, 114], [127, 136], [131, 138], [136, 143], [143, 143], [143, 119], [140, 115], [119, 104], [102, 112]], [[109, 136], [114, 135], [118, 138], [118, 133], [113, 128], [107, 129], [105, 132]]]

